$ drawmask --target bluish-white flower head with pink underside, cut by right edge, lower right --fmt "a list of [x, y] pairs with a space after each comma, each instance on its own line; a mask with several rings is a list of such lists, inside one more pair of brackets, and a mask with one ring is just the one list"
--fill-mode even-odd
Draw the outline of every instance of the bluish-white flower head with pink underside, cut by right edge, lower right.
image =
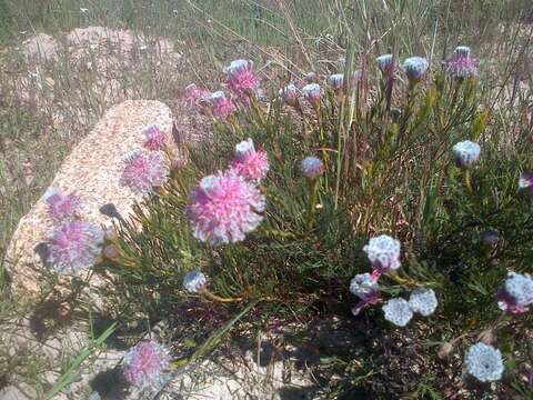
[[533, 303], [533, 279], [529, 274], [509, 272], [505, 284], [497, 291], [499, 306], [512, 313], [527, 311]]

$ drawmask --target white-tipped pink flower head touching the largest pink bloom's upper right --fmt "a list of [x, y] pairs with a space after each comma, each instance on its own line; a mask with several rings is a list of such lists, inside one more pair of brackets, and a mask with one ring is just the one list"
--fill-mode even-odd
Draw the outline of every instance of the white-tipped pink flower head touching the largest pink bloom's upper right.
[[247, 181], [259, 183], [269, 172], [269, 157], [263, 150], [255, 151], [252, 139], [248, 139], [235, 146], [231, 168]]

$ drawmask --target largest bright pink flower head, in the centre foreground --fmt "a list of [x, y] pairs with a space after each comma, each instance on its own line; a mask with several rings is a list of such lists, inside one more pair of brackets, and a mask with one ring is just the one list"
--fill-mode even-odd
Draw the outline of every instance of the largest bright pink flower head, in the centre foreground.
[[189, 200], [193, 234], [211, 246], [242, 241], [263, 220], [264, 196], [233, 170], [203, 178]]

